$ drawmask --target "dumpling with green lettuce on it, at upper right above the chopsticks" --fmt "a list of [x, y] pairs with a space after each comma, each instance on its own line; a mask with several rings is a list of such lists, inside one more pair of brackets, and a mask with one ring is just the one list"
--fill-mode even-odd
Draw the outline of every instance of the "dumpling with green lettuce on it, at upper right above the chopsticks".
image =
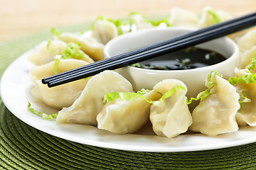
[[231, 18], [233, 18], [233, 16], [225, 11], [215, 11], [213, 8], [210, 8], [210, 6], [206, 6], [206, 8], [203, 8], [202, 16], [198, 22], [198, 28], [205, 28], [215, 23], [230, 20]]

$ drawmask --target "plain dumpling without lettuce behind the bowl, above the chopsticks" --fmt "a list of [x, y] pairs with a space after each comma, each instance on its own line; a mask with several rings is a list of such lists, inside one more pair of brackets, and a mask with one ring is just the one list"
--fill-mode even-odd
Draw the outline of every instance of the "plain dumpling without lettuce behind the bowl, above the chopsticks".
[[171, 26], [184, 26], [197, 28], [199, 18], [195, 13], [181, 8], [171, 8], [169, 23]]

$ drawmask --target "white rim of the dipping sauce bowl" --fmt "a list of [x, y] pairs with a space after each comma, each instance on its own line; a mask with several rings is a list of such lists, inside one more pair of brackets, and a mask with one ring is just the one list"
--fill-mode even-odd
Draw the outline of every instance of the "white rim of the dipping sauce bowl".
[[[119, 39], [123, 39], [123, 38], [127, 38], [129, 36], [134, 36], [136, 34], [142, 34], [142, 33], [150, 33], [150, 32], [154, 32], [154, 31], [159, 31], [159, 30], [188, 30], [188, 31], [193, 31], [193, 30], [197, 30], [196, 28], [186, 28], [186, 27], [167, 27], [167, 28], [146, 28], [146, 29], [142, 29], [142, 30], [137, 30], [136, 32], [130, 32], [130, 33], [125, 33], [125, 34], [122, 34], [122, 35], [119, 35], [117, 36], [116, 38], [113, 38], [112, 40], [110, 40], [109, 42], [107, 42], [107, 44], [105, 45], [105, 48], [104, 48], [104, 57], [105, 58], [110, 58], [110, 57], [107, 57], [110, 56], [110, 54], [107, 52], [107, 50], [110, 48], [110, 45], [116, 41], [116, 40], [119, 40]], [[139, 68], [139, 67], [132, 67], [132, 66], [127, 66], [129, 69], [134, 69], [134, 71], [140, 71], [140, 72], [148, 72], [149, 74], [150, 73], [166, 73], [166, 72], [173, 72], [173, 73], [181, 73], [183, 72], [184, 74], [186, 72], [191, 72], [191, 71], [203, 71], [203, 70], [208, 70], [212, 67], [218, 67], [218, 65], [221, 65], [221, 64], [225, 64], [227, 62], [230, 62], [230, 60], [234, 60], [235, 57], [238, 57], [239, 56], [239, 47], [238, 45], [230, 38], [224, 36], [224, 37], [221, 37], [221, 38], [215, 38], [213, 40], [225, 40], [228, 44], [232, 45], [234, 50], [232, 52], [232, 55], [230, 55], [230, 57], [228, 57], [226, 60], [224, 60], [223, 62], [219, 62], [217, 64], [212, 64], [212, 65], [209, 65], [209, 66], [206, 66], [206, 67], [199, 67], [199, 68], [195, 68], [195, 69], [178, 69], [178, 70], [159, 70], [159, 69], [144, 69], [144, 68]]]

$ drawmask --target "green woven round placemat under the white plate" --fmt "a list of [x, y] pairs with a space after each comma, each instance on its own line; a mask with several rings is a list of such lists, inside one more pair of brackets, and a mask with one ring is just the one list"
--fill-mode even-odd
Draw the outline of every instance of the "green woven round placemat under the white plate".
[[[88, 24], [65, 27], [78, 31]], [[0, 45], [0, 75], [49, 31]], [[200, 152], [129, 152], [82, 145], [36, 130], [0, 101], [0, 169], [256, 169], [256, 143]]]

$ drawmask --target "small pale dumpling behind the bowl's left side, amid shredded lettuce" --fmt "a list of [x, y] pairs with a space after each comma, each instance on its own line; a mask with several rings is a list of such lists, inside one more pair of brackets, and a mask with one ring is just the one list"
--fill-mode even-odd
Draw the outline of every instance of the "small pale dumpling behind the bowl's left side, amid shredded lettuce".
[[98, 20], [94, 25], [92, 36], [102, 44], [107, 44], [110, 40], [117, 37], [117, 26], [110, 21]]

